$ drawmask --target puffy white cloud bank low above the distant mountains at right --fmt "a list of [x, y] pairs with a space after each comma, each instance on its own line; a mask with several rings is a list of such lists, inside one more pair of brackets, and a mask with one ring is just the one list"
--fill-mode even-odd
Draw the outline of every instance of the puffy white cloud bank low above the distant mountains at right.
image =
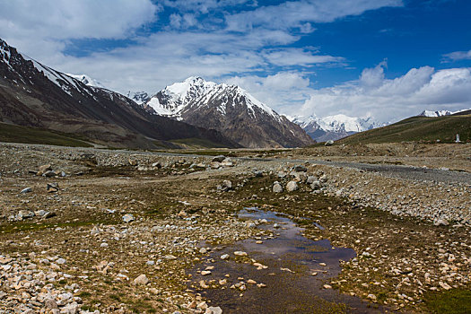
[[423, 66], [390, 80], [385, 77], [385, 66], [365, 69], [357, 81], [312, 90], [301, 114], [325, 117], [342, 113], [389, 122], [417, 115], [423, 109], [471, 108], [471, 68], [435, 71]]

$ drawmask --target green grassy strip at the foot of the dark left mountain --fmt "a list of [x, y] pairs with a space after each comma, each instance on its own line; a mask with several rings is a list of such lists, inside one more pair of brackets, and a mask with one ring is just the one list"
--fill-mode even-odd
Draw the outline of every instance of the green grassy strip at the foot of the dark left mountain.
[[92, 147], [92, 144], [76, 137], [43, 128], [0, 123], [0, 142]]

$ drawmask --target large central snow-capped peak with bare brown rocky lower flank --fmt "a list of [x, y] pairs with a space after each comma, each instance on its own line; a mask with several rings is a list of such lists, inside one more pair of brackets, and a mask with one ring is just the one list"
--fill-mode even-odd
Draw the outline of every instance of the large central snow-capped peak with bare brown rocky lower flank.
[[206, 82], [197, 76], [167, 86], [143, 105], [155, 114], [218, 130], [245, 147], [295, 147], [313, 143], [300, 126], [239, 86]]

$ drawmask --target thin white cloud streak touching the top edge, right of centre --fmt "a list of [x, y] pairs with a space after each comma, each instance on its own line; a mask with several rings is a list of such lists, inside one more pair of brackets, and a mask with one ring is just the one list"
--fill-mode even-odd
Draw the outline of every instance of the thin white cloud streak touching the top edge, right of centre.
[[299, 28], [306, 30], [306, 22], [333, 22], [348, 15], [359, 15], [385, 6], [401, 6], [402, 0], [301, 0], [262, 6], [226, 16], [228, 29], [247, 31], [257, 27], [276, 30]]

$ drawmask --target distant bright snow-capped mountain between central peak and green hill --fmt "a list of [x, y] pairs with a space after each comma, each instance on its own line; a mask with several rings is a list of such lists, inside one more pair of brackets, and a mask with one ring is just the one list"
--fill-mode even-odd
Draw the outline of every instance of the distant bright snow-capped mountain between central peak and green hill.
[[381, 126], [372, 118], [348, 117], [343, 114], [324, 118], [318, 118], [315, 115], [308, 117], [299, 116], [292, 118], [292, 122], [301, 126], [308, 135], [318, 142], [335, 141], [357, 132]]

